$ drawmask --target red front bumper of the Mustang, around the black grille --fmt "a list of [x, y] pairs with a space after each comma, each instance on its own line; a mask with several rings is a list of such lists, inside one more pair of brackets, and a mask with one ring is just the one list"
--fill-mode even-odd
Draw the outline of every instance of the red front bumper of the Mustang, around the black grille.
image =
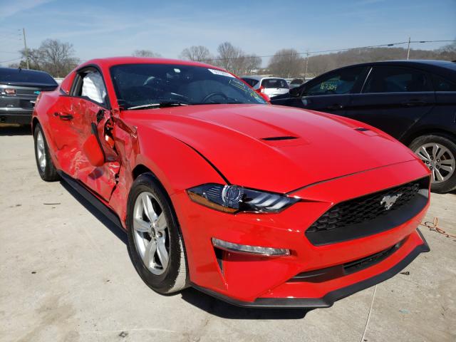
[[[416, 227], [428, 203], [397, 226], [357, 239], [316, 246], [306, 229], [334, 203], [395, 187], [428, 175], [418, 160], [379, 167], [304, 187], [304, 199], [277, 214], [226, 214], [172, 195], [184, 235], [190, 281], [229, 303], [252, 307], [326, 307], [333, 301], [390, 278], [428, 247]], [[235, 244], [286, 248], [291, 255], [262, 257], [219, 251], [212, 238]], [[324, 281], [296, 281], [303, 272], [350, 263], [395, 246], [385, 259], [351, 274]]]

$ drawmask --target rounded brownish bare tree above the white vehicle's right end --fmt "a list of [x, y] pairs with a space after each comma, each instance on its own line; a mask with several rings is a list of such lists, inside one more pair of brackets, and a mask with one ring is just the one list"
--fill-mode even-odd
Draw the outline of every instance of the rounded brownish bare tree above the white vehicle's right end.
[[283, 48], [274, 53], [268, 68], [275, 76], [286, 78], [299, 76], [304, 70], [304, 58], [294, 48]]

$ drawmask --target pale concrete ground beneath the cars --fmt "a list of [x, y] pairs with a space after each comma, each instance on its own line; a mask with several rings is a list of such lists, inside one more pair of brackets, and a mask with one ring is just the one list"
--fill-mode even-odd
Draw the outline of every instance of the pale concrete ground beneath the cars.
[[[147, 288], [125, 234], [41, 181], [28, 130], [0, 128], [0, 165], [0, 341], [456, 341], [455, 238], [422, 227], [431, 252], [410, 274], [329, 309], [239, 309]], [[433, 217], [456, 234], [455, 193], [432, 194]]]

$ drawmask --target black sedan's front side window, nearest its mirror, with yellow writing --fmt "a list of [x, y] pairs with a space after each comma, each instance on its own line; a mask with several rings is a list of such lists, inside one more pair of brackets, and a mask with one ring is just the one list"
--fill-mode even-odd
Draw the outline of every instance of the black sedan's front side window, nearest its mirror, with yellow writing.
[[330, 73], [321, 81], [304, 90], [303, 95], [348, 94], [361, 76], [364, 68], [348, 68]]

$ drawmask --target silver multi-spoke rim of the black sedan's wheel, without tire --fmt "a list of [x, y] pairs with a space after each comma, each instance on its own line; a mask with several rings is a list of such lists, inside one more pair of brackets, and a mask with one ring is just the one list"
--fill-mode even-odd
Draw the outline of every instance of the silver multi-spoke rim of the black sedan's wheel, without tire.
[[437, 142], [423, 144], [415, 150], [432, 173], [432, 184], [445, 182], [455, 172], [455, 156], [444, 145]]

